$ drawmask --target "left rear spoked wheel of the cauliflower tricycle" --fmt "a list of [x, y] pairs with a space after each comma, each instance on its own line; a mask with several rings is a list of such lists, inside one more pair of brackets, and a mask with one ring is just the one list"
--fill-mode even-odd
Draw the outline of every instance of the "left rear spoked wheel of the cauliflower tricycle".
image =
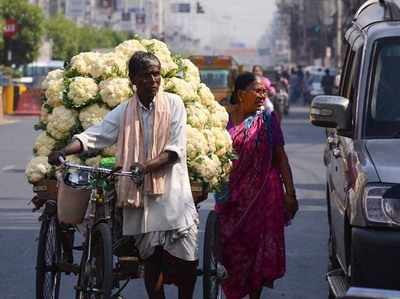
[[[47, 215], [46, 215], [47, 216]], [[42, 221], [36, 259], [36, 298], [58, 299], [61, 273], [57, 265], [61, 261], [60, 231], [55, 215]]]

